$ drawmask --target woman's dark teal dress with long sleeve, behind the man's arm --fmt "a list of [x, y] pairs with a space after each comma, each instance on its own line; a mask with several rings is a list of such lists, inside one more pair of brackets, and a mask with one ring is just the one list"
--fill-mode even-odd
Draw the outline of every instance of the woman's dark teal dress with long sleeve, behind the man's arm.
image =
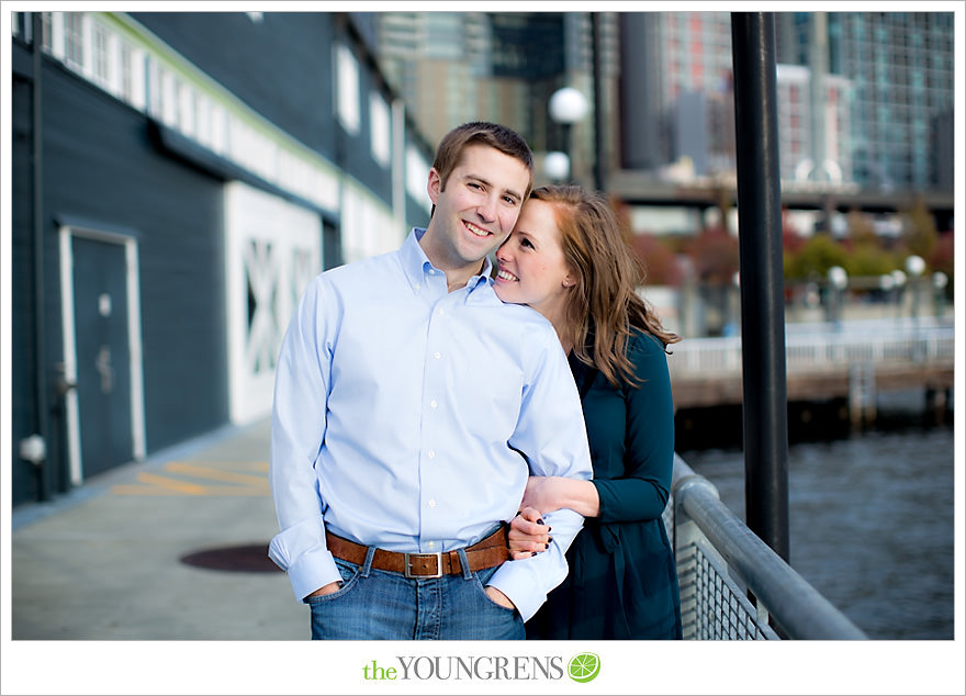
[[571, 356], [600, 514], [571, 545], [566, 579], [527, 621], [529, 639], [681, 638], [677, 572], [661, 517], [674, 461], [667, 358], [642, 330], [628, 341], [628, 358], [639, 388], [617, 389]]

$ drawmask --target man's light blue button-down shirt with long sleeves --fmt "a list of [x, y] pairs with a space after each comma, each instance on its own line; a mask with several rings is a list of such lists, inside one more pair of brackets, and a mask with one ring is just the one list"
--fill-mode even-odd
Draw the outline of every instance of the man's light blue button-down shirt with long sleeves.
[[[282, 343], [270, 474], [281, 532], [269, 552], [297, 599], [341, 580], [326, 528], [392, 551], [449, 551], [510, 520], [530, 473], [591, 478], [553, 327], [499, 301], [488, 260], [448, 292], [424, 233], [316, 277]], [[544, 520], [550, 549], [490, 582], [525, 620], [566, 575], [583, 524], [570, 509]]]

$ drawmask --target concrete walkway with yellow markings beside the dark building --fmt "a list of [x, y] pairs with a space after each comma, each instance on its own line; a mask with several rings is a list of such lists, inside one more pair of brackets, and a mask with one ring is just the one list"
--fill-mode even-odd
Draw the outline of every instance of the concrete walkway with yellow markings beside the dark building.
[[12, 513], [13, 640], [307, 640], [268, 560], [269, 420]]

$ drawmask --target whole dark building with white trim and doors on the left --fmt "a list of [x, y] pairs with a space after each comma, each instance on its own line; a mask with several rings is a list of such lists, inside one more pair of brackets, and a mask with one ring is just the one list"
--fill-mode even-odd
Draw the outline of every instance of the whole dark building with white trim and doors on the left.
[[[329, 13], [144, 23], [44, 13], [38, 75], [33, 16], [15, 15], [10, 447], [20, 504], [268, 415], [274, 357], [305, 283], [425, 224], [429, 155], [351, 27]], [[114, 328], [96, 336], [85, 316], [98, 332]], [[20, 457], [33, 434], [46, 442], [40, 468]]]

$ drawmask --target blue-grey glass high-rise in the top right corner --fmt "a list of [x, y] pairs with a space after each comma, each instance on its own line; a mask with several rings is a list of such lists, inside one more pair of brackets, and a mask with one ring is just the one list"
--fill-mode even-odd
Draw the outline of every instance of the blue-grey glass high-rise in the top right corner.
[[[779, 60], [847, 80], [852, 178], [865, 187], [952, 188], [952, 12], [776, 15]], [[824, 44], [824, 46], [822, 46]]]

